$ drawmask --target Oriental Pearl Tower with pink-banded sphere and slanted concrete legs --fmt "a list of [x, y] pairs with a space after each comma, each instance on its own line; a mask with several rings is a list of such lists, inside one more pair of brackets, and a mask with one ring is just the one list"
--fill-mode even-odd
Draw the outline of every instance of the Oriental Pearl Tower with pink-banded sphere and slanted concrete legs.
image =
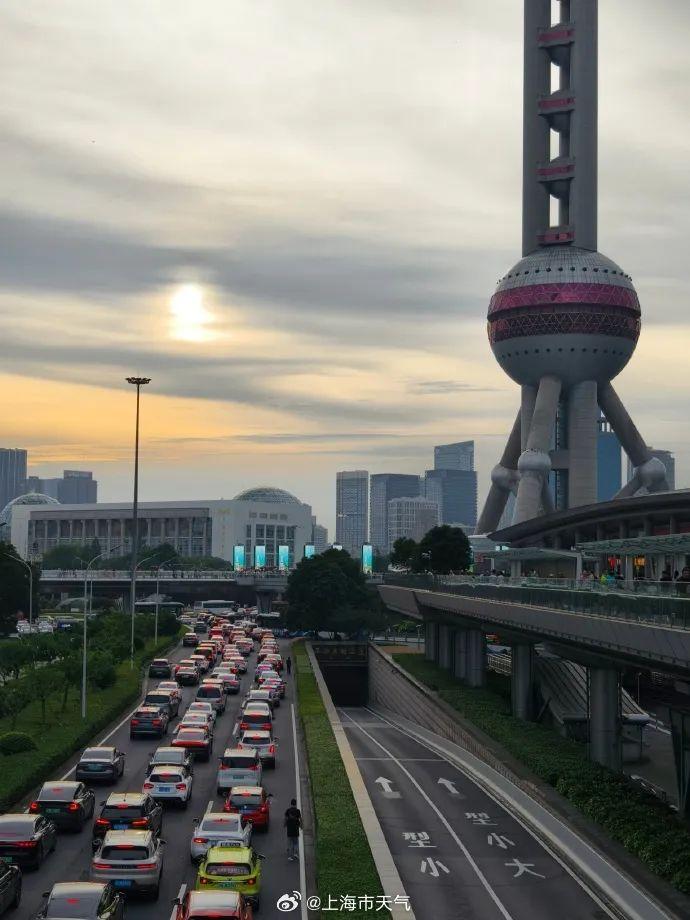
[[[477, 533], [597, 500], [600, 411], [635, 474], [615, 496], [667, 489], [611, 380], [640, 334], [630, 275], [597, 251], [597, 0], [525, 0], [523, 258], [491, 298], [488, 333], [521, 404]], [[553, 207], [552, 207], [553, 205]], [[554, 473], [551, 476], [551, 473]]]

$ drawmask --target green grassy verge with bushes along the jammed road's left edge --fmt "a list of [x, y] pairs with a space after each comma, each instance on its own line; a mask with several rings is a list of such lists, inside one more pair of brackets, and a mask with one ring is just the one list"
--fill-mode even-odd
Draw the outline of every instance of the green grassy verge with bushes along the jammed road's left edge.
[[[147, 643], [135, 654], [133, 669], [129, 661], [121, 662], [112, 686], [89, 691], [85, 720], [81, 718], [78, 698], [73, 698], [62, 712], [60, 688], [48, 700], [47, 724], [42, 723], [40, 702], [35, 700], [27, 706], [19, 717], [17, 729], [33, 738], [37, 750], [0, 756], [0, 809], [7, 811], [16, 806], [31, 789], [49, 779], [54, 770], [132, 705], [141, 693], [142, 666], [170, 645], [170, 636], [160, 639], [157, 645]], [[0, 735], [9, 731], [9, 718], [0, 719]]]

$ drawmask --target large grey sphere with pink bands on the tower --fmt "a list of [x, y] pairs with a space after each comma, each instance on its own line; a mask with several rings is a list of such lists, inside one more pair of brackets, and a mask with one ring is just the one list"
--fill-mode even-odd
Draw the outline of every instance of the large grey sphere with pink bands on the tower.
[[489, 342], [503, 370], [536, 386], [608, 382], [630, 360], [640, 303], [629, 275], [599, 252], [573, 246], [536, 250], [510, 269], [491, 298]]

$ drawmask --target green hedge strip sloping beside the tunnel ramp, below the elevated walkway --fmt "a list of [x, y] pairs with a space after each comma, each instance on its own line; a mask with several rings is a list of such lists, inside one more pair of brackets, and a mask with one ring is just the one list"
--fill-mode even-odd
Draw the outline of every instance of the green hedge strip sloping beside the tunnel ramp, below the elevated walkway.
[[624, 774], [588, 760], [582, 744], [544, 725], [514, 718], [505, 697], [467, 687], [420, 655], [400, 653], [393, 659], [553, 786], [648, 869], [679, 891], [690, 893], [690, 828], [667, 805], [633, 785]]

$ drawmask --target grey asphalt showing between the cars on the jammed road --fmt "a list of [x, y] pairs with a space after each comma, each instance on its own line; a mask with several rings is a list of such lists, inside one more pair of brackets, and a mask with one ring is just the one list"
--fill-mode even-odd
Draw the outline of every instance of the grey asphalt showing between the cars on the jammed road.
[[[288, 654], [288, 643], [280, 643], [281, 651]], [[171, 658], [179, 660], [186, 657], [189, 649], [178, 649]], [[165, 861], [161, 893], [156, 903], [151, 901], [132, 899], [127, 905], [127, 920], [168, 920], [171, 911], [171, 901], [177, 895], [183, 882], [193, 885], [196, 872], [189, 859], [189, 842], [192, 836], [193, 820], [200, 817], [210, 801], [218, 810], [222, 807], [222, 799], [216, 795], [217, 757], [223, 752], [227, 740], [234, 730], [239, 701], [249, 687], [256, 665], [256, 652], [249, 658], [248, 672], [243, 676], [242, 688], [238, 696], [228, 697], [228, 706], [223, 716], [220, 716], [215, 732], [213, 756], [211, 761], [197, 763], [194, 768], [194, 786], [192, 801], [186, 811], [175, 806], [166, 806], [163, 819], [163, 839], [166, 843]], [[152, 680], [155, 685], [157, 681]], [[193, 687], [183, 688], [184, 702], [180, 707], [180, 714], [186, 709], [194, 694]], [[286, 855], [285, 831], [283, 829], [283, 813], [296, 796], [296, 770], [295, 770], [295, 744], [293, 738], [292, 720], [293, 692], [289, 678], [287, 678], [287, 691], [281, 705], [276, 710], [275, 732], [277, 737], [277, 766], [275, 770], [264, 771], [264, 785], [268, 792], [273, 794], [271, 802], [271, 827], [268, 833], [257, 832], [253, 838], [253, 845], [257, 852], [263, 853], [266, 859], [263, 863], [263, 884], [261, 889], [261, 915], [271, 917], [276, 914], [275, 903], [285, 892], [300, 889], [300, 864], [290, 862]], [[173, 724], [175, 724], [173, 722]], [[108, 733], [110, 734], [110, 733]], [[104, 738], [99, 735], [100, 742]], [[112, 791], [141, 792], [142, 783], [148, 756], [159, 744], [169, 743], [170, 736], [162, 742], [157, 739], [130, 740], [129, 718], [111, 737], [107, 744], [114, 744], [127, 754], [125, 775], [113, 786], [99, 786], [96, 788], [96, 802], [100, 802]], [[74, 763], [65, 765], [58, 774], [61, 779], [73, 777]], [[66, 773], [70, 768], [69, 775]], [[17, 920], [30, 920], [43, 903], [41, 892], [48, 891], [55, 882], [85, 880], [88, 878], [88, 868], [91, 861], [91, 832], [90, 825], [81, 834], [63, 833], [60, 835], [58, 845], [38, 872], [27, 872], [24, 879], [24, 894], [19, 909], [13, 916]]]

